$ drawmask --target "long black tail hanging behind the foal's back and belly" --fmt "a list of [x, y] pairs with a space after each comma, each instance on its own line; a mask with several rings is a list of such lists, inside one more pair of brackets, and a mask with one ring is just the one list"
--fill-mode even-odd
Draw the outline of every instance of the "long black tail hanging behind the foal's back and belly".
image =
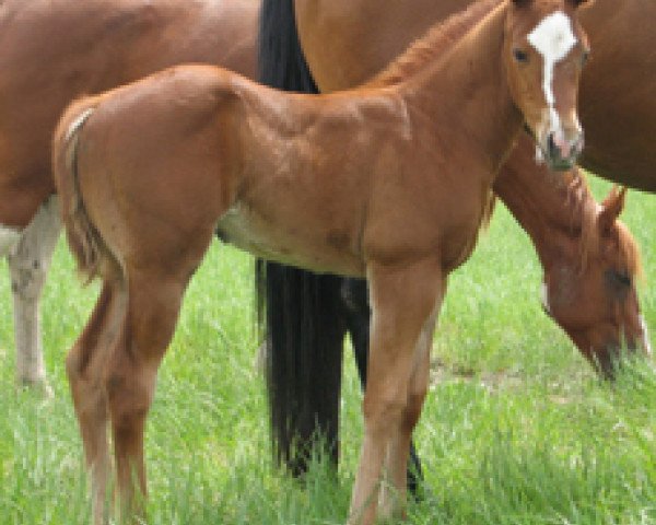
[[[258, 80], [318, 93], [303, 56], [293, 0], [263, 0]], [[341, 279], [256, 262], [258, 319], [263, 324], [271, 440], [279, 463], [300, 476], [320, 439], [337, 466], [344, 319]]]

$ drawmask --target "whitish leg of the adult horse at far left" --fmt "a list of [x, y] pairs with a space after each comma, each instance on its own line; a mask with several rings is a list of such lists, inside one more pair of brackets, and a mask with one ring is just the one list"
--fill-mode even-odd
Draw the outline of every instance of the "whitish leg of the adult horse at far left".
[[60, 230], [59, 201], [57, 196], [51, 196], [25, 228], [9, 256], [17, 380], [44, 385], [46, 392], [39, 302]]

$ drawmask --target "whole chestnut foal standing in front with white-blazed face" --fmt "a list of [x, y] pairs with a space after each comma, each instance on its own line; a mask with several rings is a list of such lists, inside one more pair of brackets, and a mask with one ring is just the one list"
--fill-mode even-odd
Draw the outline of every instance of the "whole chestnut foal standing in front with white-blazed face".
[[103, 279], [67, 359], [96, 518], [107, 418], [124, 512], [139, 511], [156, 371], [215, 232], [260, 257], [367, 277], [365, 435], [349, 523], [373, 524], [378, 506], [403, 513], [438, 307], [475, 247], [495, 174], [523, 125], [559, 170], [583, 142], [582, 2], [496, 3], [471, 7], [454, 45], [455, 24], [436, 26], [358, 90], [289, 94], [187, 66], [65, 112], [52, 145], [63, 223], [80, 269]]

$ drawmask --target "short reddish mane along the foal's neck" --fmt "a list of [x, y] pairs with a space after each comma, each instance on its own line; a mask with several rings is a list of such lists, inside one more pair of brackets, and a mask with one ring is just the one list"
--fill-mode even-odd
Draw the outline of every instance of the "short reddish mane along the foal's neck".
[[444, 22], [434, 25], [365, 85], [367, 88], [394, 85], [422, 70], [427, 61], [444, 54], [445, 49], [448, 49], [502, 1], [480, 0], [470, 4], [465, 11], [455, 13]]

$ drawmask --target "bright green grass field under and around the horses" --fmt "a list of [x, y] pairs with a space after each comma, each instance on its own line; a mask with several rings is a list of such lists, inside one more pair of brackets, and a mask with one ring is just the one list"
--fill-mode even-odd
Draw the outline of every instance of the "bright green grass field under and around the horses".
[[[608, 186], [595, 182], [598, 196]], [[625, 222], [656, 277], [654, 197], [631, 192]], [[148, 424], [153, 524], [340, 524], [362, 422], [350, 359], [342, 464], [301, 486], [273, 467], [255, 368], [251, 258], [214, 244], [188, 292]], [[82, 289], [63, 242], [44, 300], [55, 397], [16, 390], [11, 299], [0, 268], [0, 525], [89, 523], [82, 447], [63, 357], [97, 287]], [[452, 278], [435, 377], [417, 431], [425, 499], [411, 524], [656, 524], [656, 374], [600, 383], [539, 306], [540, 268], [502, 207]], [[641, 289], [656, 327], [656, 289]], [[656, 341], [653, 341], [656, 343]]]

